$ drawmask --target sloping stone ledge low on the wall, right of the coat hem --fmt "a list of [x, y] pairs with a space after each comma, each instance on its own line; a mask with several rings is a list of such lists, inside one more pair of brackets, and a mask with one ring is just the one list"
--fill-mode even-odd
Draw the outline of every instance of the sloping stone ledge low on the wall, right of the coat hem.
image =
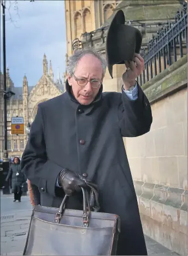
[[134, 187], [138, 197], [166, 204], [167, 206], [172, 206], [176, 209], [181, 209], [187, 212], [187, 190], [152, 183], [144, 183], [143, 181], [134, 181]]

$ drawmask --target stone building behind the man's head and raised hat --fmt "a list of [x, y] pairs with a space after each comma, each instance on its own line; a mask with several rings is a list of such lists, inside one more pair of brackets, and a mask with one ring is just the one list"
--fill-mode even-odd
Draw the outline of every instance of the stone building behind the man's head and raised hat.
[[[152, 35], [155, 35], [164, 24], [173, 21], [180, 8], [179, 0], [66, 0], [64, 4], [67, 35], [66, 65], [68, 57], [78, 48], [92, 47], [105, 54], [108, 26], [119, 9], [125, 13], [126, 24], [131, 24], [140, 30], [143, 36], [142, 47], [146, 48]], [[103, 80], [104, 92], [121, 91], [123, 72], [125, 65], [114, 65], [114, 78], [111, 79], [107, 70]]]

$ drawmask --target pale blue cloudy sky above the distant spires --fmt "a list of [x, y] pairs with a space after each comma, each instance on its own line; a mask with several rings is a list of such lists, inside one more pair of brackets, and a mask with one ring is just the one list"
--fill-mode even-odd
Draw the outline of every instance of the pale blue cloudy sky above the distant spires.
[[[16, 4], [15, 4], [16, 2]], [[64, 1], [6, 1], [6, 66], [15, 87], [22, 86], [26, 74], [28, 86], [35, 86], [43, 74], [43, 56], [50, 60], [57, 79], [59, 67], [65, 72], [66, 25]], [[2, 6], [1, 71], [3, 72]]]

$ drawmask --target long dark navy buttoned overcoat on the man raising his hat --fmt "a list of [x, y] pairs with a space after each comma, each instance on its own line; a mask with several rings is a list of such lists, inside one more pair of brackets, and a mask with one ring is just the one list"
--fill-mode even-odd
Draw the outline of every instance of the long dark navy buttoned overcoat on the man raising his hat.
[[[143, 135], [152, 123], [148, 99], [138, 86], [138, 99], [102, 87], [92, 104], [80, 105], [67, 92], [38, 105], [21, 165], [41, 192], [43, 206], [59, 207], [63, 197], [57, 176], [63, 168], [99, 187], [101, 212], [121, 219], [117, 255], [146, 255], [136, 193], [122, 137]], [[80, 208], [81, 198], [69, 198], [67, 208]]]

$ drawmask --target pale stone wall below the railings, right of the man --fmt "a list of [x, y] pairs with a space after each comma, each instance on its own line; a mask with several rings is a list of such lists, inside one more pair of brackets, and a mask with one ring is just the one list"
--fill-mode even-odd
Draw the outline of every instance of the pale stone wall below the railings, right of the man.
[[153, 122], [126, 138], [144, 233], [187, 255], [187, 55], [144, 84]]

